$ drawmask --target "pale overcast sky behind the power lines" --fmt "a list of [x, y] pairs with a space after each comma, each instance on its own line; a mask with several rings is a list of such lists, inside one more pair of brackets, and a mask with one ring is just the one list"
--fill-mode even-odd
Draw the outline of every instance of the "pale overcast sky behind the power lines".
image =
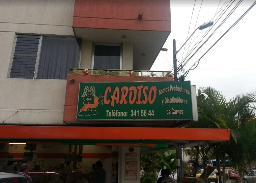
[[[168, 48], [168, 51], [161, 51], [159, 53], [151, 70], [171, 70], [173, 72], [173, 39], [176, 40], [176, 50], [178, 50], [198, 26], [205, 22], [214, 21], [214, 26], [209, 28], [211, 29], [210, 31], [206, 28], [204, 30], [197, 30], [193, 34], [193, 38], [187, 42], [185, 47], [185, 50], [191, 50], [199, 38], [202, 38], [205, 33], [209, 31], [206, 36], [208, 38], [217, 29], [239, 0], [235, 0], [234, 2], [233, 0], [196, 0], [196, 3], [194, 0], [171, 0], [170, 2], [172, 31], [163, 46], [164, 48]], [[233, 4], [230, 8], [226, 8], [226, 13], [222, 18], [219, 18], [223, 14], [222, 11], [226, 10], [224, 8], [229, 2], [230, 4], [233, 2]], [[223, 25], [211, 36], [202, 49], [184, 66], [184, 71], [187, 71], [254, 2], [255, 0], [243, 0]], [[193, 7], [194, 12], [192, 16]], [[196, 85], [197, 88], [212, 86], [222, 91], [227, 99], [239, 93], [256, 91], [255, 43], [256, 5], [205, 54], [197, 68], [190, 71], [185, 80], [190, 80], [191, 84]], [[177, 54], [177, 65], [182, 61], [182, 57], [184, 59], [187, 56], [187, 51], [183, 53], [183, 48], [184, 46]]]

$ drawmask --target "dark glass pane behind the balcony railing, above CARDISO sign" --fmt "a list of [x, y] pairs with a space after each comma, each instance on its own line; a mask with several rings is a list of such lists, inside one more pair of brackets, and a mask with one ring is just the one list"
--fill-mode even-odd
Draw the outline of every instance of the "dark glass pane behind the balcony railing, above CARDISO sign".
[[95, 45], [95, 69], [120, 69], [120, 46]]

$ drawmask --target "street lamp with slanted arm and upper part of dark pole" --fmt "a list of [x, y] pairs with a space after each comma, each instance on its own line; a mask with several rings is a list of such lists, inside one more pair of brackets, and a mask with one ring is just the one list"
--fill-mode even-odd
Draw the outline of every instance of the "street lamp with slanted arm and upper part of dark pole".
[[174, 81], [177, 81], [177, 53], [180, 51], [180, 49], [188, 42], [188, 40], [193, 36], [193, 34], [196, 32], [197, 29], [202, 30], [207, 27], [210, 27], [213, 25], [214, 22], [206, 22], [202, 25], [200, 25], [198, 28], [195, 29], [195, 31], [189, 36], [187, 41], [179, 48], [178, 51], [176, 51], [176, 40], [173, 39], [173, 79]]

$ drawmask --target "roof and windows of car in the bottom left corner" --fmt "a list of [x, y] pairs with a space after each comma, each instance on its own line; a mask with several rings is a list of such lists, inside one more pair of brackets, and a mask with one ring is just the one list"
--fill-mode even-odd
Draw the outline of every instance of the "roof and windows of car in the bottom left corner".
[[24, 175], [0, 172], [0, 183], [33, 183]]

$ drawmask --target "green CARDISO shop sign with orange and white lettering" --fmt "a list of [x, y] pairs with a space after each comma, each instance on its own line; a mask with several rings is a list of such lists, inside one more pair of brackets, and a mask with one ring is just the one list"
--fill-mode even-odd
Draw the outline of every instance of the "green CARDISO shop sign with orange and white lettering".
[[190, 81], [81, 82], [77, 120], [193, 119]]

